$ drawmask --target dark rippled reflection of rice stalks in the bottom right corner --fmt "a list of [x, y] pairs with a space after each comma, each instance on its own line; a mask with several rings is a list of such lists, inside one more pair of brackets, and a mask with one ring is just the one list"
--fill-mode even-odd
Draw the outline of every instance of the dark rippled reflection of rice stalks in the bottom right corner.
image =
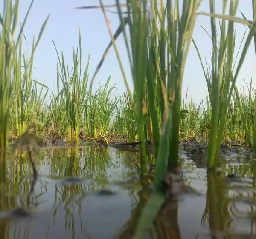
[[206, 205], [201, 225], [209, 229], [209, 237], [202, 238], [254, 238], [255, 164], [231, 163], [225, 168], [226, 172], [206, 171]]

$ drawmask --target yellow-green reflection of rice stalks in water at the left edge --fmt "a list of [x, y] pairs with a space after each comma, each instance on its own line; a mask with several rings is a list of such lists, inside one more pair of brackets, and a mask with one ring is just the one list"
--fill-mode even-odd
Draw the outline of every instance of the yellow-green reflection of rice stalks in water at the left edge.
[[[23, 161], [25, 154], [18, 152], [7, 157], [6, 152], [0, 150], [0, 212], [12, 211], [18, 207], [28, 208], [29, 203], [34, 202], [29, 198], [34, 180], [23, 178], [24, 173], [28, 174], [31, 170]], [[42, 193], [37, 198], [41, 195]], [[9, 238], [9, 221], [9, 218], [0, 220], [0, 238]], [[29, 225], [25, 227], [15, 225], [13, 234], [13, 238], [19, 238], [22, 234], [23, 238], [28, 238]]]

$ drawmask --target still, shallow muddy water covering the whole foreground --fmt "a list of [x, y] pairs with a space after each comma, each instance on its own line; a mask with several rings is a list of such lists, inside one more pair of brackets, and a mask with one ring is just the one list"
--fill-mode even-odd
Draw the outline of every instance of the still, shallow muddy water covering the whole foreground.
[[[26, 152], [0, 151], [0, 239], [132, 238], [153, 181], [140, 176], [139, 158], [116, 148], [47, 148], [34, 154], [33, 185]], [[184, 183], [200, 195], [166, 202], [145, 238], [256, 238], [256, 157], [223, 160], [217, 173], [181, 160]]]

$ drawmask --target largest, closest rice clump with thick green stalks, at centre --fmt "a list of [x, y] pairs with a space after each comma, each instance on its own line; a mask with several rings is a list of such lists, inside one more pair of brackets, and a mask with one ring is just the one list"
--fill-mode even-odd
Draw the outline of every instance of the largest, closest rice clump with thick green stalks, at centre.
[[[102, 0], [99, 0], [99, 2], [104, 12], [111, 40], [122, 70], [122, 61], [119, 57], [115, 38], [108, 25]], [[150, 5], [146, 0], [141, 1], [141, 4], [136, 0], [129, 2], [127, 1], [128, 16], [125, 18], [122, 16], [119, 0], [116, 0], [116, 5], [119, 11], [134, 83], [136, 98], [134, 113], [138, 125], [139, 138], [142, 142], [141, 165], [145, 165], [145, 144], [143, 143], [145, 142], [145, 129], [143, 124], [146, 123], [148, 133], [153, 141], [154, 150], [156, 151], [158, 167], [156, 168], [155, 186], [159, 188], [160, 180], [166, 171], [167, 158], [169, 157], [169, 169], [177, 166], [178, 162], [183, 71], [195, 26], [196, 11], [201, 1], [183, 1], [181, 17], [179, 15], [178, 1], [175, 1], [174, 9], [171, 0], [167, 0], [166, 6], [164, 6], [163, 0], [161, 0], [160, 7], [158, 7], [156, 0], [151, 0]], [[153, 17], [149, 16], [148, 8], [151, 9]], [[129, 26], [130, 42], [125, 29], [126, 23]], [[128, 85], [123, 70], [122, 73], [125, 83]], [[132, 97], [128, 86], [127, 91], [131, 100]], [[166, 128], [166, 131], [162, 131], [162, 136], [160, 136], [159, 121], [157, 119], [159, 107], [161, 127], [162, 129]], [[170, 111], [171, 108], [172, 111]], [[169, 114], [172, 116], [167, 117]], [[149, 123], [150, 121], [151, 123]], [[164, 125], [172, 125], [172, 127], [169, 128]], [[171, 132], [167, 133], [169, 137], [169, 147], [167, 148], [170, 148], [172, 154], [169, 154], [168, 150], [165, 155], [162, 155], [163, 152], [157, 154], [158, 149], [166, 145], [166, 132], [169, 130]], [[163, 145], [160, 145], [160, 142]]]

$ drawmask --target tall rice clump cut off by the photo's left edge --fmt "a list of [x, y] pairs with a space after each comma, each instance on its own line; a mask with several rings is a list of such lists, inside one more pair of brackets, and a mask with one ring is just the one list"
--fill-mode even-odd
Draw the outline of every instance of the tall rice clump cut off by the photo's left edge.
[[[21, 76], [20, 66], [22, 34], [33, 2], [34, 0], [32, 0], [29, 5], [29, 9], [26, 12], [26, 16], [20, 27], [20, 31], [17, 34], [16, 42], [15, 34], [17, 30], [19, 0], [15, 1], [15, 3], [12, 3], [12, 0], [4, 0], [3, 14], [0, 14], [0, 148], [5, 148], [8, 146], [10, 114], [9, 109], [13, 100], [16, 100], [12, 99], [12, 93], [14, 93], [12, 92], [12, 89], [15, 89], [16, 87], [14, 83], [15, 80], [17, 80], [17, 78], [20, 78]], [[29, 70], [28, 73], [27, 70], [28, 67], [32, 65], [33, 54], [39, 43], [41, 35], [43, 34], [48, 18], [49, 15], [41, 27], [38, 40], [36, 42], [33, 42], [30, 59], [23, 59], [23, 62], [26, 63], [27, 66], [25, 66], [25, 73], [23, 74], [23, 77], [27, 77], [27, 75], [29, 74], [29, 77], [31, 78], [32, 71]], [[19, 56], [17, 56], [17, 54]], [[26, 80], [24, 81], [26, 82]], [[23, 84], [26, 85], [26, 83]], [[28, 89], [26, 88], [26, 90]]]

